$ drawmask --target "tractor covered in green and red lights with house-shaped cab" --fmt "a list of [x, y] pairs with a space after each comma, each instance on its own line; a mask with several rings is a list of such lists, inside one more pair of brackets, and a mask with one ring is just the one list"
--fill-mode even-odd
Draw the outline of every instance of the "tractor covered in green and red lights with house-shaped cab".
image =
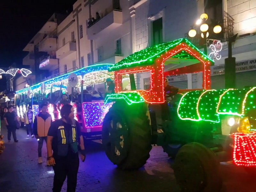
[[[211, 90], [212, 65], [188, 40], [178, 39], [135, 52], [111, 66], [116, 93], [108, 95], [105, 103], [115, 103], [102, 127], [109, 160], [123, 170], [138, 169], [148, 160], [152, 144], [162, 146], [175, 158], [172, 168], [186, 192], [220, 191], [220, 162], [233, 160], [253, 169], [256, 87]], [[166, 76], [197, 72], [203, 74], [203, 89], [180, 90], [166, 101]], [[150, 77], [147, 90], [139, 86], [145, 73]], [[124, 85], [124, 74], [129, 75], [130, 89]], [[156, 120], [159, 109], [161, 129]]]

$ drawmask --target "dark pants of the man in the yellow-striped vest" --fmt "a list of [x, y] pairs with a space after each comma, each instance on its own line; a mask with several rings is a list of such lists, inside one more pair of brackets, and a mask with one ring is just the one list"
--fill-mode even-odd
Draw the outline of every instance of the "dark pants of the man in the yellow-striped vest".
[[68, 177], [67, 192], [75, 192], [79, 167], [78, 153], [66, 157], [55, 156], [54, 159], [56, 164], [53, 166], [54, 179], [52, 191], [60, 192], [66, 177]]

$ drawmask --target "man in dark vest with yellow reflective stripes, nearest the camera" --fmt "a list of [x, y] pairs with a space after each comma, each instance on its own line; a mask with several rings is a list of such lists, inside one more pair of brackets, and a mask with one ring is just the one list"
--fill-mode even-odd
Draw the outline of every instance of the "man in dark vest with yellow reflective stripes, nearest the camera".
[[74, 119], [74, 108], [64, 105], [60, 115], [61, 119], [52, 123], [47, 137], [47, 159], [54, 170], [52, 191], [60, 192], [68, 177], [67, 191], [75, 192], [79, 167], [78, 145], [81, 148], [81, 160], [84, 162], [84, 140], [80, 126]]

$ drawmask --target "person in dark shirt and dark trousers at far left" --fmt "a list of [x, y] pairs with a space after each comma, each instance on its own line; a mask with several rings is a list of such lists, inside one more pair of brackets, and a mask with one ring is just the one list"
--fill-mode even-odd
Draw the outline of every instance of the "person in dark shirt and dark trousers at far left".
[[11, 141], [11, 135], [13, 137], [14, 142], [18, 142], [16, 137], [16, 129], [18, 129], [18, 123], [19, 123], [19, 118], [17, 116], [17, 113], [13, 111], [12, 105], [8, 107], [8, 112], [4, 114], [4, 122], [7, 127], [7, 139], [8, 142]]

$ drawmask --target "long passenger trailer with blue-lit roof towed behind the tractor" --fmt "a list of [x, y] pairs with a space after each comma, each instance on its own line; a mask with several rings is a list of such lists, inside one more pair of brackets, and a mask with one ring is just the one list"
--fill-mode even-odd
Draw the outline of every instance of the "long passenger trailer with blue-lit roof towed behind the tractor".
[[[97, 90], [104, 95], [106, 79], [114, 79], [113, 72], [108, 72], [108, 68], [112, 65], [98, 64], [84, 67], [17, 91], [15, 101], [20, 118], [24, 118], [28, 105], [32, 105], [36, 116], [40, 110], [38, 103], [48, 102], [48, 112], [52, 115], [52, 119], [60, 119], [60, 109], [63, 104], [58, 101], [61, 101], [62, 93], [68, 93], [71, 98], [76, 93], [77, 100], [72, 99], [70, 104], [74, 107], [75, 119], [81, 124], [82, 133], [86, 137], [101, 134], [104, 116], [112, 103], [105, 105], [103, 97], [102, 100], [93, 100], [91, 93]], [[71, 78], [75, 83], [70, 84]], [[91, 93], [84, 92], [88, 87]], [[57, 102], [56, 93], [57, 98], [59, 97]]]

